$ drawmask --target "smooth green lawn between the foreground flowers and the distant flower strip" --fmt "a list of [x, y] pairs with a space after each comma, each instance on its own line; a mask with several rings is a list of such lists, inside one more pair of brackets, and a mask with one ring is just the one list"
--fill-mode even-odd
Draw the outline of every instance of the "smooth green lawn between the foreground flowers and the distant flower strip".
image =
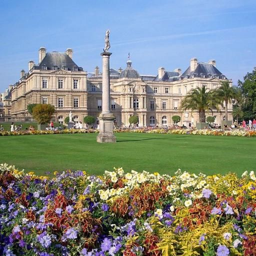
[[173, 174], [178, 168], [205, 174], [256, 170], [256, 138], [115, 133], [116, 143], [97, 143], [96, 133], [0, 137], [0, 162], [25, 171], [123, 167]]

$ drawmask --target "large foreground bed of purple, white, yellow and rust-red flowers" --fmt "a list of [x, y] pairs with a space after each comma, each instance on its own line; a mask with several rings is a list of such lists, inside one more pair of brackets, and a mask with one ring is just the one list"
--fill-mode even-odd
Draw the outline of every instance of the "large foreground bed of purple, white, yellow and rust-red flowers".
[[254, 172], [122, 168], [47, 176], [0, 165], [2, 255], [255, 255]]

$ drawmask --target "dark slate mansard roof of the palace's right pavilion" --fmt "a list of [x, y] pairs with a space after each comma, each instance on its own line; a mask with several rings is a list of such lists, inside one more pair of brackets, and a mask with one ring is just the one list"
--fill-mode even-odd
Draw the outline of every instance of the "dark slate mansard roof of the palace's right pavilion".
[[194, 75], [194, 77], [199, 77], [203, 75], [223, 75], [214, 65], [209, 63], [198, 63], [194, 71], [190, 71], [190, 66], [182, 73], [181, 76]]

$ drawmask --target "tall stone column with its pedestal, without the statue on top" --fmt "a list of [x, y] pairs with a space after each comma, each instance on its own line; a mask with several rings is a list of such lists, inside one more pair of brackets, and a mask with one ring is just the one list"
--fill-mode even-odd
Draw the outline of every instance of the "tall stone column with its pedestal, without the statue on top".
[[97, 142], [116, 142], [113, 134], [114, 115], [110, 112], [109, 57], [112, 53], [104, 51], [102, 56], [102, 112], [98, 116], [99, 134]]

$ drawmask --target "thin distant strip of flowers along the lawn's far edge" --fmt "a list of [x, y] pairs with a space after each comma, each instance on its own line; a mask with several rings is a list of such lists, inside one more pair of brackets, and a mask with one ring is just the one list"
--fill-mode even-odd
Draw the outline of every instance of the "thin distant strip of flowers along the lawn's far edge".
[[[63, 130], [32, 130], [32, 131], [0, 131], [0, 136], [8, 135], [37, 135], [37, 134], [66, 134], [66, 133], [97, 133], [96, 129], [63, 129]], [[256, 136], [256, 130], [222, 130], [222, 129], [164, 129], [164, 128], [139, 128], [116, 129], [114, 132], [139, 132], [139, 133], [167, 133], [167, 134], [192, 134], [214, 136]]]

